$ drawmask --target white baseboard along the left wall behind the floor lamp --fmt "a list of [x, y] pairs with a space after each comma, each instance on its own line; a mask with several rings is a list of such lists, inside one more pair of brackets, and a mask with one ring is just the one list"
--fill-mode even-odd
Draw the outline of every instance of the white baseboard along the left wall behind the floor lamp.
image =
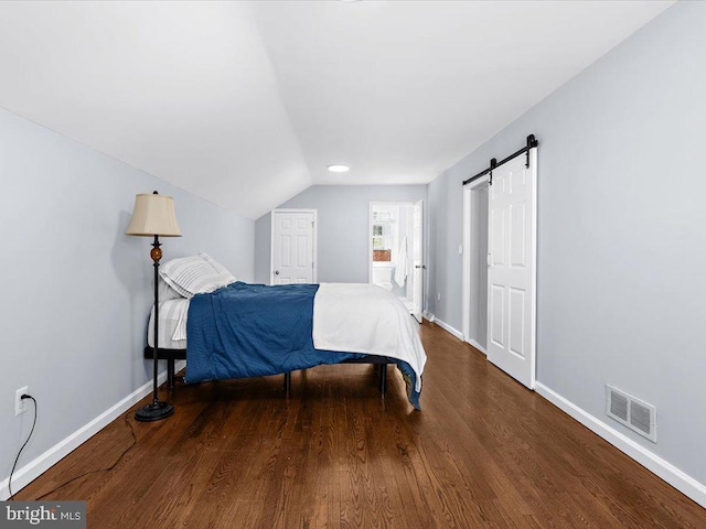
[[[184, 368], [185, 365], [185, 360], [176, 361], [174, 364], [174, 373], [179, 373]], [[163, 384], [164, 380], [167, 380], [167, 371], [160, 374], [157, 380], [160, 385]], [[42, 455], [18, 469], [12, 476], [12, 490], [17, 493], [24, 488], [53, 465], [66, 457], [74, 450], [76, 450], [78, 446], [88, 441], [96, 433], [98, 433], [100, 430], [103, 430], [105, 427], [110, 424], [118, 417], [129, 410], [136, 402], [139, 402], [145, 397], [150, 395], [151, 391], [152, 380], [149, 380], [143, 386], [139, 387], [130, 395], [128, 395], [125, 399], [120, 400], [118, 403], [100, 413], [93, 421], [79, 428], [74, 433], [49, 449]], [[9, 477], [3, 482], [0, 482], [0, 499], [2, 500], [10, 497], [8, 483]]]

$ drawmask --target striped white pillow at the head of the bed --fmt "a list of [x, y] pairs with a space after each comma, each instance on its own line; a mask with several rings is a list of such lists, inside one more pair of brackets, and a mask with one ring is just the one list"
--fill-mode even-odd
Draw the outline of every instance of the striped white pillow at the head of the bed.
[[236, 279], [206, 253], [172, 259], [160, 267], [164, 282], [184, 298], [204, 294], [234, 283]]

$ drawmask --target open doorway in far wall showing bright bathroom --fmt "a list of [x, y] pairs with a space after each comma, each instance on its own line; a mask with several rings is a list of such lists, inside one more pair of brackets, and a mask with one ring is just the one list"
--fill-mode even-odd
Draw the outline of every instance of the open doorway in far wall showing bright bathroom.
[[371, 202], [368, 282], [395, 294], [421, 323], [422, 202]]

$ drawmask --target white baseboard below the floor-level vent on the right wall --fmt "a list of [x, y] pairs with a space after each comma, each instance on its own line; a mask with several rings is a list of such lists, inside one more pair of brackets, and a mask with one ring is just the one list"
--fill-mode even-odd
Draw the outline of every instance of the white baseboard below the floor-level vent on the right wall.
[[702, 507], [706, 507], [706, 485], [697, 482], [692, 476], [680, 471], [659, 455], [649, 451], [641, 444], [634, 442], [632, 439], [623, 435], [618, 430], [614, 430], [610, 425], [600, 421], [596, 417], [576, 406], [574, 402], [567, 400], [557, 392], [547, 388], [542, 382], [536, 382], [535, 389], [537, 393], [547, 399], [561, 411], [571, 415], [590, 431], [603, 438], [625, 455], [632, 457], [646, 469], [649, 469], [653, 474], [656, 474], [659, 477], [692, 498]]

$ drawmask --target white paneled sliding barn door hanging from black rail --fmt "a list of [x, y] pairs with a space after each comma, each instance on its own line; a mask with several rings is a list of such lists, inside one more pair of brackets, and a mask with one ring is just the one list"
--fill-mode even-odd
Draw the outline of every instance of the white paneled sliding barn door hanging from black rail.
[[488, 226], [488, 359], [535, 385], [536, 149], [493, 170]]

